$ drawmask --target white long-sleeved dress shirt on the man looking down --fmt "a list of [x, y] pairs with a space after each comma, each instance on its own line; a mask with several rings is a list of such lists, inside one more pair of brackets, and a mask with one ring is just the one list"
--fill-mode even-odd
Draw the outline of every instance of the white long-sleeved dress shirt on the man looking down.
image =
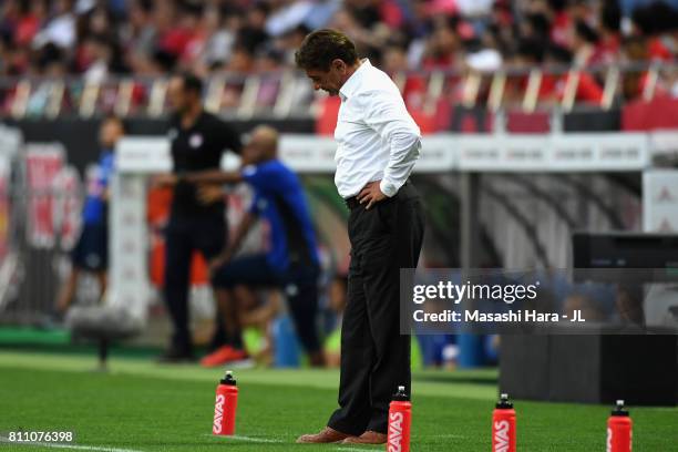
[[391, 79], [363, 60], [339, 90], [341, 106], [335, 140], [335, 184], [339, 195], [357, 195], [380, 181], [391, 197], [405, 183], [421, 152], [421, 132]]

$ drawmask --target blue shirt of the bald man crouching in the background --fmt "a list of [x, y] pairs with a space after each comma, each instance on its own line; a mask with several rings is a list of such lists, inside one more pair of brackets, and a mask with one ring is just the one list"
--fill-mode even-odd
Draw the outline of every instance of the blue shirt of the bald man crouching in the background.
[[297, 175], [278, 160], [245, 166], [242, 174], [255, 191], [249, 212], [270, 225], [268, 264], [279, 271], [290, 264], [318, 266], [316, 233]]

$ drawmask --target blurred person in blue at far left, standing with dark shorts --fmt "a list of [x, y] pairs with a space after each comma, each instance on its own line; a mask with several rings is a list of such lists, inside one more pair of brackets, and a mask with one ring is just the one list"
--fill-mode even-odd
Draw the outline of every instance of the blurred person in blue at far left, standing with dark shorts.
[[106, 290], [109, 184], [115, 171], [115, 145], [124, 135], [124, 124], [119, 117], [110, 116], [101, 123], [99, 131], [101, 155], [95, 170], [96, 174], [86, 184], [86, 196], [82, 210], [82, 229], [71, 254], [71, 273], [59, 294], [58, 312], [63, 314], [71, 306], [78, 288], [78, 279], [82, 271], [93, 273], [96, 276], [101, 296]]

